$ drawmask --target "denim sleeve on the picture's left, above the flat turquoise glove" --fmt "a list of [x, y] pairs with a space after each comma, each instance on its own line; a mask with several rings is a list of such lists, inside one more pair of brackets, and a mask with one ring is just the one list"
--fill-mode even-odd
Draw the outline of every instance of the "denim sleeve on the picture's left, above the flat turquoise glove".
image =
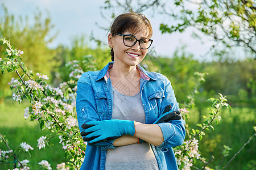
[[[98, 116], [97, 113], [96, 100], [94, 98], [94, 91], [90, 80], [92, 79], [90, 79], [89, 74], [84, 73], [77, 82], [76, 113], [80, 131], [84, 130], [81, 128], [82, 124], [93, 120], [100, 120], [100, 116]], [[99, 145], [101, 145], [102, 149], [104, 148], [104, 150], [113, 148], [113, 141], [105, 142], [104, 145], [100, 143], [98, 146]]]

